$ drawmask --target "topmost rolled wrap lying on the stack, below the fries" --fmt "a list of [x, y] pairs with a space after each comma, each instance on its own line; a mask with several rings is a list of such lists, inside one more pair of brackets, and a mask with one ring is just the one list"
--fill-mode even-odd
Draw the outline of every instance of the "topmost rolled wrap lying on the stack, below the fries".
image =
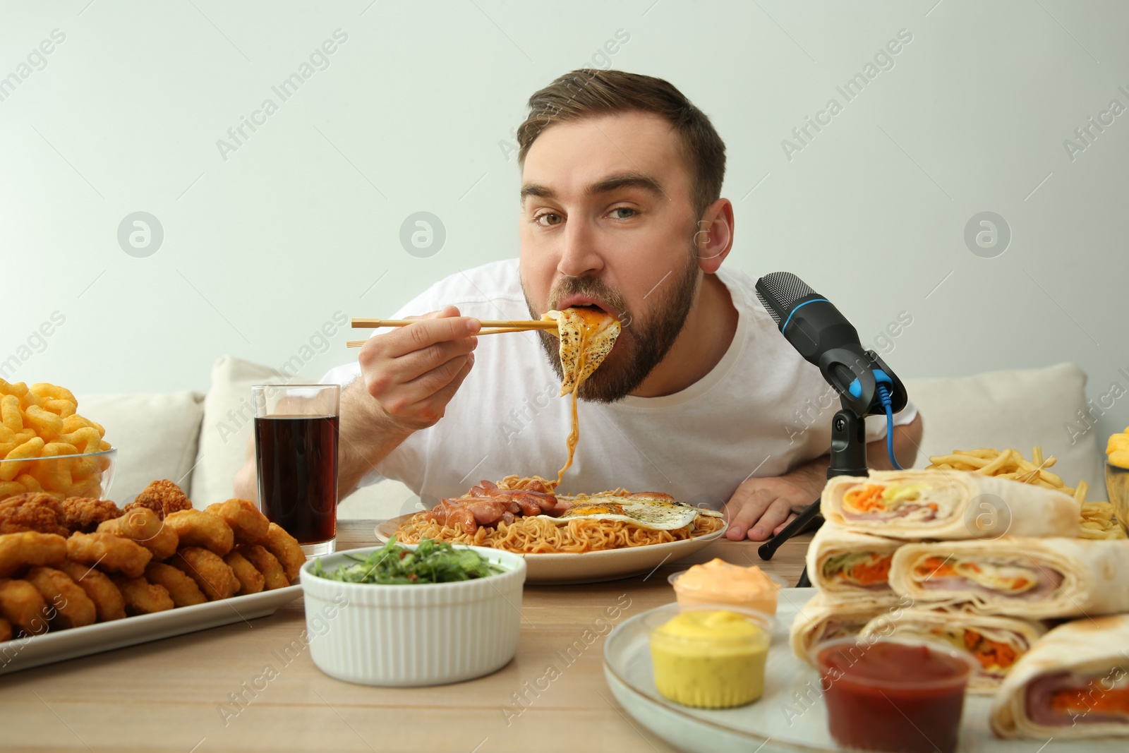
[[[935, 517], [921, 509], [905, 517], [865, 519], [843, 510], [843, 496], [866, 484], [920, 483], [927, 487], [922, 502], [936, 505]], [[989, 494], [984, 499], [981, 496]], [[1068, 494], [1053, 489], [997, 479], [969, 471], [874, 471], [869, 476], [829, 479], [820, 498], [820, 511], [834, 525], [857, 533], [868, 533], [908, 541], [963, 540], [996, 536], [999, 531], [977, 527], [978, 516], [1001, 516], [1003, 500], [1009, 517], [1003, 533], [1013, 536], [1077, 536], [1080, 509]]]

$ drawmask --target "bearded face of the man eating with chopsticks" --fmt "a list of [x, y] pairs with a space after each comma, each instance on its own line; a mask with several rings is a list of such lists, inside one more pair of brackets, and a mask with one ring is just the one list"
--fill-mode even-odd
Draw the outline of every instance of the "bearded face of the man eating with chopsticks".
[[[630, 394], [681, 332], [701, 278], [691, 187], [677, 135], [649, 113], [554, 123], [530, 148], [519, 229], [530, 315], [594, 305], [623, 325], [581, 397]], [[557, 339], [542, 343], [560, 374]]]

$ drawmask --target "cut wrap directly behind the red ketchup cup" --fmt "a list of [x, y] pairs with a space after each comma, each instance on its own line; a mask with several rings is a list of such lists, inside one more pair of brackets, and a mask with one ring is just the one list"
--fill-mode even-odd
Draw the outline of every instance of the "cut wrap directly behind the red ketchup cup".
[[879, 614], [859, 634], [883, 638], [918, 638], [949, 643], [968, 651], [980, 663], [969, 678], [969, 692], [991, 693], [1015, 663], [1047, 632], [1040, 622], [977, 614], [959, 610], [904, 610], [895, 620]]

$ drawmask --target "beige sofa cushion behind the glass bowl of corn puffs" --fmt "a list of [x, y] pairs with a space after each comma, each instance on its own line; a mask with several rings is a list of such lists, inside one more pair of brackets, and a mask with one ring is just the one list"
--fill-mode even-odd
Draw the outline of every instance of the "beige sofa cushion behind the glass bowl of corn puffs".
[[108, 497], [119, 505], [158, 479], [192, 494], [204, 396], [199, 392], [132, 395], [77, 395], [78, 412], [106, 429], [117, 448]]

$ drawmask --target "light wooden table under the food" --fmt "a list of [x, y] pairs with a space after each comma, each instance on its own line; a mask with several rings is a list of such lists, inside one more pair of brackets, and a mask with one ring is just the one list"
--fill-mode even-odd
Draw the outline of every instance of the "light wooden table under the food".
[[[374, 545], [375, 524], [341, 522], [338, 548]], [[596, 618], [606, 620], [607, 606], [625, 605], [622, 622], [672, 602], [666, 577], [690, 563], [715, 557], [755, 563], [795, 585], [809, 540], [787, 542], [770, 562], [761, 562], [752, 542], [723, 540], [646, 578], [527, 585], [514, 660], [492, 675], [437, 688], [368, 688], [322, 674], [304, 640], [299, 598], [250, 623], [0, 677], [0, 748], [671, 751], [612, 699], [603, 674], [603, 637], [569, 665], [557, 651], [572, 646]], [[539, 692], [532, 683], [551, 663], [560, 676]], [[265, 673], [268, 667], [273, 672]], [[264, 673], [273, 678], [254, 682]], [[523, 693], [526, 700], [518, 702]]]

